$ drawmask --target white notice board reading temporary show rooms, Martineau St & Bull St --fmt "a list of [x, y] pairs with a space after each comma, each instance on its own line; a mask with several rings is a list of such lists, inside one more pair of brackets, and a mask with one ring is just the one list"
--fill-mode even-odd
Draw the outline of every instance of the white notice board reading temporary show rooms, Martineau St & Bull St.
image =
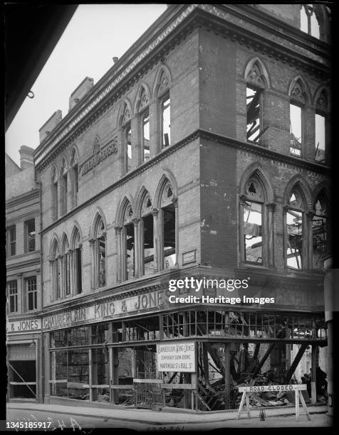
[[195, 372], [194, 341], [157, 344], [159, 372]]

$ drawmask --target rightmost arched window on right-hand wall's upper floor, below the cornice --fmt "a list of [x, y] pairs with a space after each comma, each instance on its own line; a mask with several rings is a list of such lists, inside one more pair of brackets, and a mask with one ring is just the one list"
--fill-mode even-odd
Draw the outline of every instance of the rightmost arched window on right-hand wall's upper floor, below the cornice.
[[323, 90], [315, 102], [315, 161], [319, 163], [326, 161], [327, 112], [328, 98]]

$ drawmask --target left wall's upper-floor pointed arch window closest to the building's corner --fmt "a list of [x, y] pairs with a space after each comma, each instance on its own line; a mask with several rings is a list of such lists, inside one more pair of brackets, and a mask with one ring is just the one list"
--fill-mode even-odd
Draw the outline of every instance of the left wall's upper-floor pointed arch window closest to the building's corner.
[[158, 90], [160, 102], [160, 134], [162, 148], [171, 144], [171, 100], [170, 100], [170, 80], [165, 72], [160, 76]]

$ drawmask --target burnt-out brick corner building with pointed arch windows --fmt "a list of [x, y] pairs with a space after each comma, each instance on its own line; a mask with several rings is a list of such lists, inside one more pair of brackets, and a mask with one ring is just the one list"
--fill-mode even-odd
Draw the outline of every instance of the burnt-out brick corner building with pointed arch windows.
[[329, 23], [318, 4], [169, 5], [41, 127], [46, 403], [130, 404], [157, 380], [169, 406], [230, 409], [236, 385], [310, 367], [317, 400]]

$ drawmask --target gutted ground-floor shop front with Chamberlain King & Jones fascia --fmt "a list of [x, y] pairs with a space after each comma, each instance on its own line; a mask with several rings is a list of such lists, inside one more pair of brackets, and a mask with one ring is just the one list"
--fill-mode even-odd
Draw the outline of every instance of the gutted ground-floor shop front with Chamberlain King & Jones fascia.
[[145, 405], [161, 392], [165, 406], [235, 409], [239, 385], [301, 382], [306, 349], [316, 367], [327, 344], [320, 313], [171, 309], [164, 299], [155, 291], [45, 316], [46, 401], [137, 405], [147, 384]]

